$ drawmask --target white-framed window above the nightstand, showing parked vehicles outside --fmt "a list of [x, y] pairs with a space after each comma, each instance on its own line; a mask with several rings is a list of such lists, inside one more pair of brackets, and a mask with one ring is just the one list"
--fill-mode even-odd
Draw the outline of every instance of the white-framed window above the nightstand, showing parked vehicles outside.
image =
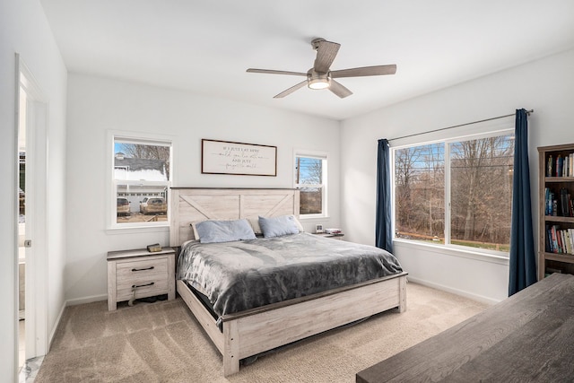
[[168, 222], [171, 143], [113, 138], [112, 226], [154, 226]]

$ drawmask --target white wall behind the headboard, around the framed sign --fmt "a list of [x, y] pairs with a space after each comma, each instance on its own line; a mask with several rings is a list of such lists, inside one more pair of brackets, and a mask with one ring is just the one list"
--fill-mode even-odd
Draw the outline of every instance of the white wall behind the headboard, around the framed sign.
[[[107, 298], [110, 250], [168, 245], [168, 231], [108, 231], [109, 130], [168, 135], [176, 187], [293, 187], [293, 150], [328, 152], [330, 219], [339, 225], [339, 139], [335, 120], [82, 74], [68, 79], [65, 298]], [[277, 146], [277, 177], [201, 174], [201, 139]], [[303, 222], [306, 230], [316, 222]]]

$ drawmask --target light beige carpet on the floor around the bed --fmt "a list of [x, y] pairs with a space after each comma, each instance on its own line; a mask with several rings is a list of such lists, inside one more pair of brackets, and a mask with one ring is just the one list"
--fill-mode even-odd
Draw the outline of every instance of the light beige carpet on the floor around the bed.
[[[65, 309], [36, 383], [354, 382], [355, 374], [472, 317], [487, 305], [407, 283], [407, 310], [317, 335], [223, 378], [222, 357], [181, 299]], [[445, 344], [448, 347], [448, 344]]]

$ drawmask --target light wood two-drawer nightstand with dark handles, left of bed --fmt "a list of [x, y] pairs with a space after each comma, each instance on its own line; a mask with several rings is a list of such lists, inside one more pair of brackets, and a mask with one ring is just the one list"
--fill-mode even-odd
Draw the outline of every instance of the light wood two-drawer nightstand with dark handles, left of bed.
[[[173, 248], [151, 253], [147, 249], [109, 251], [108, 309], [117, 302], [168, 294], [176, 297], [175, 255]], [[135, 292], [134, 292], [135, 291]]]

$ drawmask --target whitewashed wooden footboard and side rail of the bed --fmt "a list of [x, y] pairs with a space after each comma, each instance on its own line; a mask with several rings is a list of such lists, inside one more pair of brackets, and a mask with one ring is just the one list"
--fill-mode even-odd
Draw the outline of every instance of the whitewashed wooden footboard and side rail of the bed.
[[223, 332], [178, 281], [178, 292], [223, 356], [223, 375], [239, 371], [239, 361], [284, 344], [317, 335], [387, 309], [406, 309], [406, 273], [318, 293], [297, 300], [249, 309], [222, 317]]

